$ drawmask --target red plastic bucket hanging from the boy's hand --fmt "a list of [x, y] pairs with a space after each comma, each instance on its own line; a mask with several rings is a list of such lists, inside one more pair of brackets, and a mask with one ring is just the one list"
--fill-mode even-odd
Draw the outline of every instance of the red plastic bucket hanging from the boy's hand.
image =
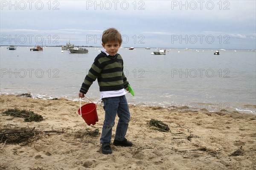
[[84, 121], [87, 123], [87, 125], [95, 125], [96, 122], [99, 122], [98, 119], [98, 114], [97, 114], [97, 110], [96, 110], [96, 104], [94, 103], [88, 103], [86, 105], [83, 105], [81, 107], [81, 113], [80, 113], [80, 108], [78, 109], [78, 114], [82, 116], [82, 118], [84, 119]]

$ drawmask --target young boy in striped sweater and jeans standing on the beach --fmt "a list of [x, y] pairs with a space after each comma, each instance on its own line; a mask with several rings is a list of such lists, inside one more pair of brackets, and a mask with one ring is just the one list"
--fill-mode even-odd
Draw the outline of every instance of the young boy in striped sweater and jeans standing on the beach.
[[97, 79], [100, 97], [104, 103], [105, 120], [102, 127], [102, 153], [111, 154], [112, 127], [115, 124], [116, 113], [119, 117], [116, 126], [116, 135], [113, 141], [115, 146], [132, 146], [132, 142], [125, 138], [130, 112], [125, 98], [125, 89], [128, 90], [128, 81], [123, 72], [123, 60], [117, 53], [122, 44], [122, 36], [115, 28], [109, 28], [102, 34], [102, 46], [105, 48], [94, 59], [84, 82], [79, 97], [84, 97], [90, 85]]

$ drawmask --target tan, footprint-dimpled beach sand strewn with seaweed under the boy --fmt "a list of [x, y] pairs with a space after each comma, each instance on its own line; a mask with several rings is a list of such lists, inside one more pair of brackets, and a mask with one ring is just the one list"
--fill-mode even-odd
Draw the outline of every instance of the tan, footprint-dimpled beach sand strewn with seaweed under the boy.
[[[0, 114], [0, 129], [35, 127], [42, 132], [29, 144], [1, 143], [1, 170], [256, 169], [256, 115], [131, 105], [126, 138], [134, 146], [111, 144], [113, 153], [104, 155], [100, 135], [77, 136], [88, 128], [101, 133], [105, 115], [101, 105], [97, 105], [99, 122], [94, 126], [88, 126], [77, 113], [79, 102], [66, 99], [1, 95], [0, 105], [1, 112], [17, 107], [44, 116], [41, 122], [24, 122], [23, 118]], [[170, 131], [152, 129], [151, 119], [164, 122]], [[115, 129], [116, 125], [113, 136]], [[56, 132], [46, 133], [53, 130]]]

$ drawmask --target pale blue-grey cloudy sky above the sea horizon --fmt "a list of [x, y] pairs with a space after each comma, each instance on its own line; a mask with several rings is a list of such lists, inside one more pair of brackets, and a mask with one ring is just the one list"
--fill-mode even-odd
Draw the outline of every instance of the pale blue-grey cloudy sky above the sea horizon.
[[255, 0], [0, 0], [0, 45], [256, 49]]

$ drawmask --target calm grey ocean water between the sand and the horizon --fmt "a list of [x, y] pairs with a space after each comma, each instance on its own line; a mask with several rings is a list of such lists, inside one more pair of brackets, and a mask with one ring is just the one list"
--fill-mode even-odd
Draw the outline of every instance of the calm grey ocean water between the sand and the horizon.
[[[88, 54], [70, 54], [61, 53], [60, 47], [29, 48], [9, 51], [0, 47], [1, 94], [79, 100], [81, 83], [102, 49], [92, 47], [87, 48]], [[214, 49], [166, 48], [166, 55], [152, 55], [155, 50], [119, 49], [135, 93], [126, 94], [129, 104], [256, 113], [255, 51], [226, 50], [213, 55]], [[97, 81], [86, 96], [100, 102]]]

